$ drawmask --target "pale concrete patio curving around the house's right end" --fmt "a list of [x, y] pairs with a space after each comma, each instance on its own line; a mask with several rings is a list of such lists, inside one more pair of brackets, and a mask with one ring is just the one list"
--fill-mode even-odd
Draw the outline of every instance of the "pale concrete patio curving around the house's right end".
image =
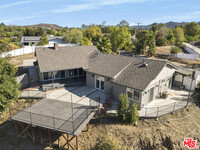
[[[184, 108], [187, 105], [189, 91], [181, 91], [173, 88], [168, 90], [168, 92], [169, 97], [167, 99], [155, 99], [141, 108], [141, 110], [138, 111], [139, 116], [141, 118], [156, 118]], [[188, 105], [191, 105], [192, 103], [193, 99], [190, 98]], [[117, 104], [117, 101], [113, 101], [112, 107], [107, 113], [116, 113]]]

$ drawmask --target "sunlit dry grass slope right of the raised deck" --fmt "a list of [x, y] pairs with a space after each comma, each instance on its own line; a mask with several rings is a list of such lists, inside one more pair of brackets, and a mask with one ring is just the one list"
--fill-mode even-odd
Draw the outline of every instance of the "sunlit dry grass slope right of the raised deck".
[[[169, 114], [160, 119], [180, 117], [191, 113], [195, 108], [196, 106], [191, 106], [175, 115]], [[185, 137], [196, 138], [200, 142], [200, 109], [191, 117], [180, 121], [139, 121], [138, 127], [117, 124], [114, 118], [101, 118], [100, 123], [93, 124], [89, 132], [80, 135], [80, 145], [85, 150], [93, 149], [95, 144], [108, 134], [117, 138], [127, 149], [180, 149]], [[168, 145], [168, 142], [171, 142], [171, 145]]]

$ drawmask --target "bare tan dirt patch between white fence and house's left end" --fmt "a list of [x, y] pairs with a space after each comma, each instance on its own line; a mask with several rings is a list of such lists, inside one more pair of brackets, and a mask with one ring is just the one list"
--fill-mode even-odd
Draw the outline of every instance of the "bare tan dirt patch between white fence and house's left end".
[[16, 65], [17, 67], [21, 67], [21, 66], [23, 66], [23, 61], [27, 60], [27, 59], [36, 59], [35, 53], [12, 57], [11, 63]]

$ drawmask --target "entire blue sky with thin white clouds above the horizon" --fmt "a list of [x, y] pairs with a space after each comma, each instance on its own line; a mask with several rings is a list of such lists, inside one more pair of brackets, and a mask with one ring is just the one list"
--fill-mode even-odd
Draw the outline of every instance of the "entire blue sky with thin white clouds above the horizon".
[[52, 23], [130, 25], [141, 22], [200, 21], [199, 0], [1, 0], [0, 22], [7, 25]]

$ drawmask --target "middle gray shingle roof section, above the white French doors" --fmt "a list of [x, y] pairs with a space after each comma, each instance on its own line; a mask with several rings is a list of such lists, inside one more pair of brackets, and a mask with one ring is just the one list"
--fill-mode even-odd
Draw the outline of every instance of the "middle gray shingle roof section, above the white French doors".
[[133, 61], [132, 57], [98, 53], [90, 57], [88, 72], [113, 78]]

